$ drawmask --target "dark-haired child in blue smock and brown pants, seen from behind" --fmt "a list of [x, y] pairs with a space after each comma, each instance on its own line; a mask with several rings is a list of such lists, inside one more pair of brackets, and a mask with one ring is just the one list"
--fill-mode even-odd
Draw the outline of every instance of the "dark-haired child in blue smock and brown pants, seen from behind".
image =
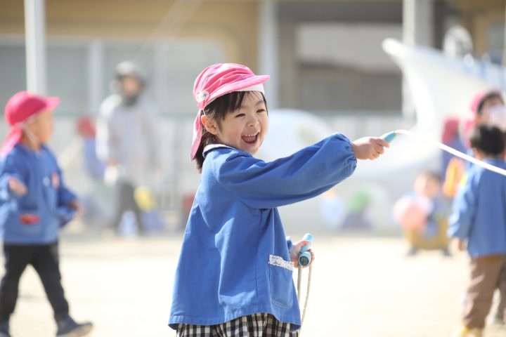
[[[469, 137], [474, 157], [506, 169], [505, 136], [495, 126], [476, 126]], [[453, 200], [448, 236], [471, 256], [463, 327], [459, 336], [481, 336], [498, 287], [506, 296], [506, 178], [481, 166], [467, 171], [467, 180]]]

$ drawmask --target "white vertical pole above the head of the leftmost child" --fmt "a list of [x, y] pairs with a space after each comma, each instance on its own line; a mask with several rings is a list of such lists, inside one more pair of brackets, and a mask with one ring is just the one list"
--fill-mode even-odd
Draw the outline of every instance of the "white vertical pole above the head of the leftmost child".
[[44, 0], [25, 0], [27, 90], [46, 95], [46, 25]]

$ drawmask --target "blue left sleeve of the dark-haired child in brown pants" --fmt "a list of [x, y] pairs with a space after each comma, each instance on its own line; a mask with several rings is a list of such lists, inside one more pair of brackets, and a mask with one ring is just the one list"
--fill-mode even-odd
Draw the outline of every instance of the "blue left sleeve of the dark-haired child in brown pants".
[[448, 218], [448, 237], [467, 239], [476, 217], [478, 199], [478, 180], [476, 174], [469, 174], [466, 183], [460, 186], [453, 199], [452, 213]]

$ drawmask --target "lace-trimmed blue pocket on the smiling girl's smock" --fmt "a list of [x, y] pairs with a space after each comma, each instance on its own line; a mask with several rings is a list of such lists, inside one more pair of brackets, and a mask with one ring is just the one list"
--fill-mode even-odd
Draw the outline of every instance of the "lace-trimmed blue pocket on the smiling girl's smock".
[[281, 308], [293, 305], [293, 263], [280, 256], [269, 256], [269, 280], [271, 302]]

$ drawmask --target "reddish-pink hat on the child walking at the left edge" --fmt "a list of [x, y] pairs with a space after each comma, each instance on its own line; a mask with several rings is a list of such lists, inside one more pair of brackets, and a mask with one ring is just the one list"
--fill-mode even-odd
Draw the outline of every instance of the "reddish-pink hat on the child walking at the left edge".
[[39, 112], [53, 110], [58, 103], [60, 103], [58, 97], [46, 98], [27, 91], [13, 95], [5, 107], [5, 119], [11, 125], [11, 131], [1, 145], [0, 154], [7, 154], [21, 140], [22, 128], [27, 121], [37, 116]]

